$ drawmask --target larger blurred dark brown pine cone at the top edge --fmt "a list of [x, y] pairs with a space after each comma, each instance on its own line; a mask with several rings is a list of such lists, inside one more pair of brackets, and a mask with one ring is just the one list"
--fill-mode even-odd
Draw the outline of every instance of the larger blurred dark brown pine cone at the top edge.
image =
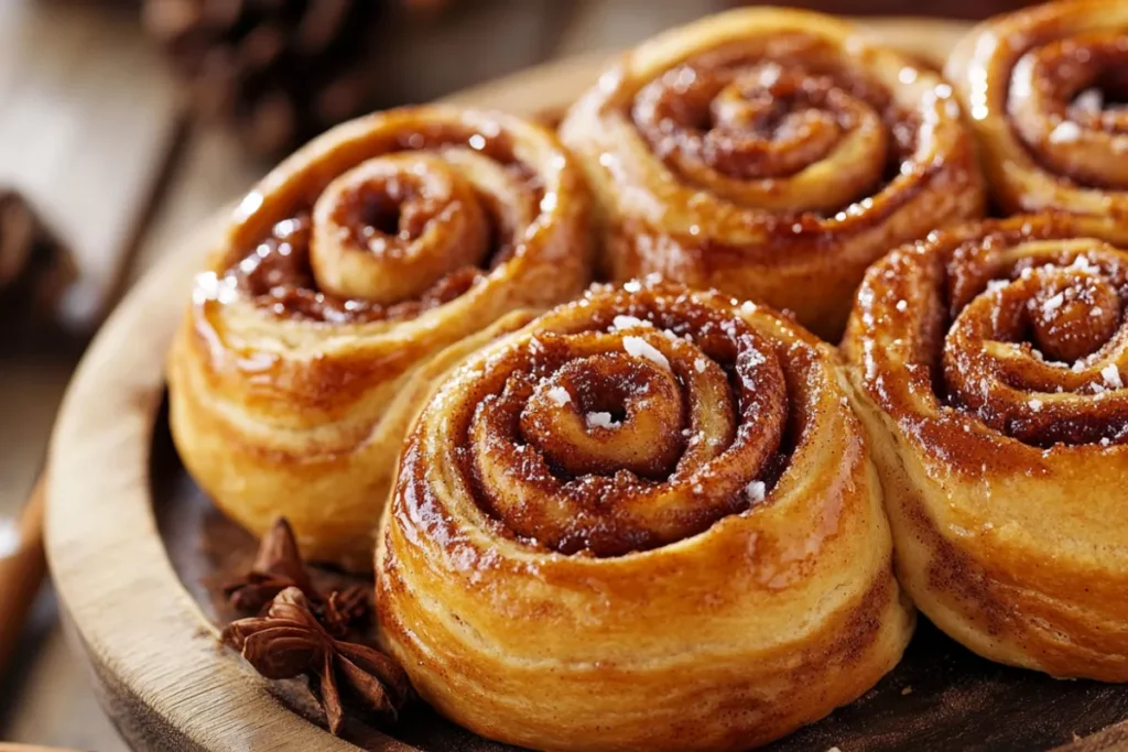
[[371, 108], [363, 61], [387, 0], [146, 0], [202, 117], [275, 158]]

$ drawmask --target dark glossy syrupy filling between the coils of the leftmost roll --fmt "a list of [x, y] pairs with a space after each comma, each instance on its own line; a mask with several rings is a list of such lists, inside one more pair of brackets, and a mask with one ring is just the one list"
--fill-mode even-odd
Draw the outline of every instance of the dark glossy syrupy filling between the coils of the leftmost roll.
[[[503, 166], [514, 183], [521, 186], [523, 198], [539, 205], [544, 186], [535, 170], [520, 161], [504, 133], [467, 133], [452, 127], [421, 129], [402, 134], [394, 144], [395, 151], [432, 151], [470, 148]], [[338, 215], [347, 218], [346, 225], [353, 237], [377, 235], [411, 242], [426, 229], [429, 221], [440, 212], [433, 209], [421, 221], [418, 216], [399, 213], [404, 196], [382, 192], [371, 195], [350, 195], [349, 202], [360, 205], [340, 206]], [[237, 254], [224, 276], [232, 280], [237, 290], [249, 297], [256, 306], [280, 318], [299, 318], [334, 324], [378, 320], [405, 320], [455, 300], [483, 276], [503, 265], [518, 251], [519, 238], [514, 228], [508, 227], [501, 207], [491, 205], [481, 196], [490, 220], [490, 251], [479, 265], [462, 266], [444, 274], [418, 297], [393, 304], [343, 298], [319, 289], [309, 262], [311, 210], [317, 195], [307, 197], [292, 215], [277, 222], [271, 233], [254, 247]]]

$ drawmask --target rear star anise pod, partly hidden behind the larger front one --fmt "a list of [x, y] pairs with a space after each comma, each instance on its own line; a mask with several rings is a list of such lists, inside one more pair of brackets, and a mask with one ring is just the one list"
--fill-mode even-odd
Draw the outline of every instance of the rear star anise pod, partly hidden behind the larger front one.
[[314, 585], [290, 523], [279, 517], [263, 536], [250, 572], [224, 586], [223, 594], [235, 610], [259, 614], [287, 587], [302, 592], [314, 616], [334, 637], [363, 629], [371, 617], [367, 587], [350, 585], [326, 595]]

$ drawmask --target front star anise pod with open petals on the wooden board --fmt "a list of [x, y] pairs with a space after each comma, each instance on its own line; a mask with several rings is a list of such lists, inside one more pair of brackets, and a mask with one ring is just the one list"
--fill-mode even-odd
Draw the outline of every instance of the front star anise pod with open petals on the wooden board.
[[298, 587], [279, 593], [266, 616], [228, 625], [221, 639], [267, 679], [307, 676], [334, 734], [346, 708], [395, 720], [411, 691], [407, 674], [393, 658], [326, 631]]

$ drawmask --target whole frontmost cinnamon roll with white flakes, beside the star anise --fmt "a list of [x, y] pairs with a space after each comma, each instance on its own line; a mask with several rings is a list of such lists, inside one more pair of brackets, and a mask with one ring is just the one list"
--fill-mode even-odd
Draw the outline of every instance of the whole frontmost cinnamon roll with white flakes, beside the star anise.
[[452, 372], [377, 548], [384, 645], [484, 736], [747, 749], [856, 698], [913, 616], [828, 345], [599, 287]]

